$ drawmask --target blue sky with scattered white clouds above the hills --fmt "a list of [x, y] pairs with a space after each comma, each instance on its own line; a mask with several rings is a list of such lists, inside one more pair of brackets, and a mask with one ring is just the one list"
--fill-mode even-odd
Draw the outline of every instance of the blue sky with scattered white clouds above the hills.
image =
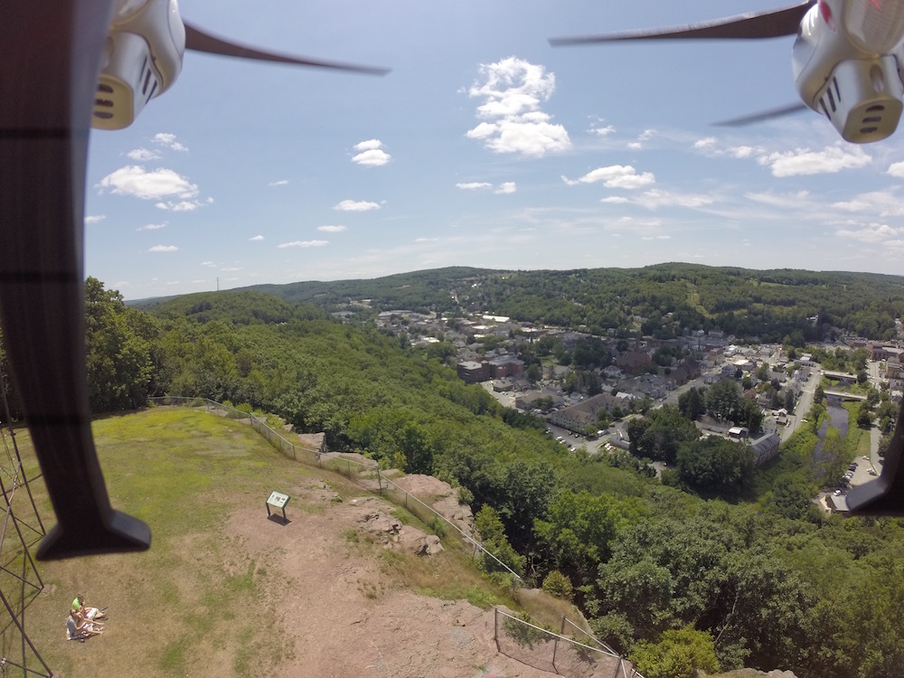
[[85, 273], [126, 299], [426, 268], [666, 261], [900, 274], [904, 129], [795, 103], [793, 38], [551, 47], [762, 0], [184, 0], [237, 42], [376, 77], [186, 52], [90, 137]]

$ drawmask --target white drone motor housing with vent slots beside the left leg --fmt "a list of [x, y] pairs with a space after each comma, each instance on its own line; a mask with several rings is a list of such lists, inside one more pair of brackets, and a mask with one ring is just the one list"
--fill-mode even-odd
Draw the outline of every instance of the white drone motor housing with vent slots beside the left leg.
[[175, 0], [117, 0], [92, 127], [128, 127], [182, 71], [185, 26]]

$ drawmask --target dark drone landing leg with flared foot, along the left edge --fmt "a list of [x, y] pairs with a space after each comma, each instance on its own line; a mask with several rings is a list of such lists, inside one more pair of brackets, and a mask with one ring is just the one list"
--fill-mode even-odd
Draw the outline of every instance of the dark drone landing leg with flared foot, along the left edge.
[[[43, 560], [143, 551], [91, 437], [82, 275], [90, 116], [113, 1], [28, 0], [0, 22], [0, 320], [57, 524]], [[42, 87], [35, 87], [41, 83]]]

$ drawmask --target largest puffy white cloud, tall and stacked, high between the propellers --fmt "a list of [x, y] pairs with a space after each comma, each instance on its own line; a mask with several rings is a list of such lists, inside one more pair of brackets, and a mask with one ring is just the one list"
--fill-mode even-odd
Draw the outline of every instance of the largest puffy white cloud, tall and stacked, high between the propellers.
[[571, 147], [565, 127], [550, 122], [540, 105], [555, 90], [555, 75], [538, 64], [508, 57], [481, 64], [482, 80], [468, 89], [472, 99], [484, 99], [477, 107], [482, 118], [466, 136], [479, 139], [495, 153], [520, 153], [540, 157]]

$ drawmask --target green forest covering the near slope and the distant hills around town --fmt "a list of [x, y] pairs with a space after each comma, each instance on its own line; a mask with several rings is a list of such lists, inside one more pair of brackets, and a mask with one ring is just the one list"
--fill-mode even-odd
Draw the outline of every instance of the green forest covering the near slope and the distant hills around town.
[[[687, 314], [682, 325], [757, 313], [782, 333], [792, 325], [805, 333], [814, 326], [805, 318], [816, 314], [826, 326], [858, 331], [866, 309], [888, 314], [893, 327], [902, 304], [899, 279], [851, 274], [772, 271], [767, 280], [764, 272], [673, 265], [548, 277], [456, 269], [447, 280], [465, 274], [473, 278], [457, 288], [457, 304], [475, 295], [496, 313], [524, 318], [533, 310], [532, 319], [551, 322], [551, 314], [573, 311], [560, 319], [593, 326], [644, 310], [664, 323], [669, 313]], [[723, 287], [731, 279], [737, 287]], [[376, 287], [361, 289], [377, 297]], [[417, 306], [414, 297], [393, 300]], [[300, 431], [325, 431], [332, 449], [458, 485], [485, 543], [528, 584], [574, 599], [598, 636], [647, 678], [685, 675], [667, 668], [675, 656], [698, 657], [691, 667], [709, 671], [900, 675], [904, 523], [829, 515], [812, 503], [826, 475], [825, 452], [814, 453], [821, 406], [762, 469], [737, 447], [694, 440], [682, 408], [632, 421], [630, 452], [571, 453], [545, 435], [542, 420], [458, 380], [441, 353], [330, 315], [348, 302], [220, 292], [143, 311], [89, 278], [92, 407], [130, 410], [163, 394], [231, 401]], [[832, 443], [830, 462], [843, 467], [852, 444], [837, 435]], [[660, 480], [648, 472], [650, 458], [675, 470]], [[719, 465], [720, 482], [711, 482]], [[505, 579], [493, 563], [485, 569]]]

